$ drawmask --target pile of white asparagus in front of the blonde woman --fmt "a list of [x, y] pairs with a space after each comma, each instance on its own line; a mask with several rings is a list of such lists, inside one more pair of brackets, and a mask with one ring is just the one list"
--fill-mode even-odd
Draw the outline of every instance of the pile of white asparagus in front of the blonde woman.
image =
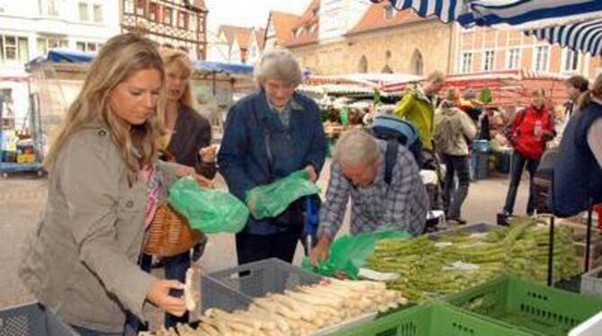
[[[315, 286], [256, 298], [246, 310], [208, 309], [200, 316], [197, 329], [179, 325], [177, 332], [183, 336], [311, 335], [330, 325], [385, 312], [407, 302], [384, 283], [328, 279]], [[176, 331], [163, 330], [156, 335], [172, 336]]]

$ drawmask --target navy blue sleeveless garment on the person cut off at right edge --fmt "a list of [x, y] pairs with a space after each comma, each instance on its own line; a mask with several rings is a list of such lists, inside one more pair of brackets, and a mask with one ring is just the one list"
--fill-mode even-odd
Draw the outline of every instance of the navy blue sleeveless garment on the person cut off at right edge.
[[589, 127], [602, 118], [602, 105], [591, 102], [571, 116], [564, 128], [553, 170], [553, 213], [571, 217], [602, 202], [602, 169], [589, 149]]

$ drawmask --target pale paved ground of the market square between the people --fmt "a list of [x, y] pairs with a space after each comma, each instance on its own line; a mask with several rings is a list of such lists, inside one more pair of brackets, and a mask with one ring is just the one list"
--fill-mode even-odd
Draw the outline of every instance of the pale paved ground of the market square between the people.
[[[324, 172], [328, 172], [327, 167]], [[327, 173], [323, 173], [319, 185], [326, 189]], [[0, 307], [18, 305], [33, 300], [22, 287], [17, 276], [22, 245], [27, 234], [35, 227], [40, 209], [46, 199], [46, 179], [16, 176], [0, 179]], [[464, 205], [464, 216], [470, 223], [495, 222], [495, 214], [502, 207], [508, 189], [508, 179], [493, 177], [471, 184]], [[525, 211], [527, 181], [522, 181], [518, 193], [518, 214]], [[348, 211], [349, 213], [349, 211]], [[341, 233], [349, 230], [346, 217]], [[301, 248], [297, 248], [296, 262], [301, 260]], [[209, 240], [205, 255], [199, 262], [204, 271], [222, 270], [235, 266], [235, 243], [231, 234], [217, 234]], [[158, 274], [158, 273], [157, 273]]]

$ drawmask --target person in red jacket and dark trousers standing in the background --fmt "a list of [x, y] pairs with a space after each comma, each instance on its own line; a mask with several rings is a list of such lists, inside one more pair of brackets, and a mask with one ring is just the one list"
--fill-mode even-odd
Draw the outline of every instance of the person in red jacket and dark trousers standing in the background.
[[556, 136], [553, 116], [544, 105], [544, 90], [535, 90], [531, 94], [531, 105], [517, 113], [509, 128], [509, 141], [514, 147], [514, 154], [510, 168], [510, 186], [503, 210], [505, 217], [512, 216], [518, 185], [526, 165], [529, 172], [527, 215], [533, 215], [536, 197], [533, 179], [539, 159], [544, 155], [546, 142]]

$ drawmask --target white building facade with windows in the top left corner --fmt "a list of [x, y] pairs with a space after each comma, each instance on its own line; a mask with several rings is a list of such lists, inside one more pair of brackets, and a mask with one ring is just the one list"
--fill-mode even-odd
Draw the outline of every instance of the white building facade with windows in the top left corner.
[[17, 125], [29, 110], [25, 64], [49, 49], [95, 52], [120, 32], [113, 0], [0, 0], [0, 97]]

